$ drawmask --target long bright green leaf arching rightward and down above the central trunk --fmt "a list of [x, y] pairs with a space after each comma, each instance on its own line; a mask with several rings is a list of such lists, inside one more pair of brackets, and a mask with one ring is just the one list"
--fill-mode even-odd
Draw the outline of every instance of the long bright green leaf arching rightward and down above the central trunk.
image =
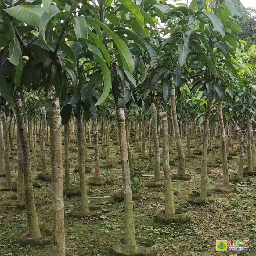
[[98, 20], [94, 20], [90, 17], [85, 17], [85, 20], [87, 20], [89, 23], [96, 24], [97, 26], [102, 27], [114, 40], [121, 57], [122, 66], [128, 70], [130, 74], [132, 74], [132, 71], [134, 69], [134, 61], [132, 59], [132, 55], [130, 50], [128, 49], [128, 46], [126, 43], [119, 38], [119, 36], [112, 31], [106, 24], [101, 23]]

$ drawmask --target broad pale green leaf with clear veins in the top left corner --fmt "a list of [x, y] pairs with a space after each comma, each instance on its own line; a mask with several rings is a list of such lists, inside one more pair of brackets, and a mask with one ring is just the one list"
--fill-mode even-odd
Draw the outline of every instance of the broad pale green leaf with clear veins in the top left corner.
[[38, 27], [45, 10], [42, 7], [26, 3], [4, 9], [4, 11], [23, 23]]

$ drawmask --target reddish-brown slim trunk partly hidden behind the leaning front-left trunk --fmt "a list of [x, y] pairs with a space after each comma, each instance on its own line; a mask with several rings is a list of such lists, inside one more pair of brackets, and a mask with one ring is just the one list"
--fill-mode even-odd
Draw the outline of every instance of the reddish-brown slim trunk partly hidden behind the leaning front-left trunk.
[[18, 189], [17, 189], [17, 201], [25, 201], [25, 191], [24, 191], [24, 176], [23, 176], [23, 156], [22, 147], [20, 142], [20, 135], [17, 129], [17, 157], [18, 157]]

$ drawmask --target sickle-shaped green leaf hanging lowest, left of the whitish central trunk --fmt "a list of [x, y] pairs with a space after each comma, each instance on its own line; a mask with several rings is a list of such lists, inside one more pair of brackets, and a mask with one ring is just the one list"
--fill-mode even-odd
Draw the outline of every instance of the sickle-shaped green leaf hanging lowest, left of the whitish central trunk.
[[97, 62], [99, 63], [99, 66], [100, 66], [100, 69], [101, 69], [101, 72], [103, 75], [103, 83], [104, 83], [103, 92], [102, 92], [99, 100], [95, 104], [95, 106], [98, 106], [105, 101], [106, 97], [109, 94], [109, 91], [111, 88], [110, 71], [109, 71], [105, 61], [95, 51], [92, 51], [92, 45], [88, 44], [88, 49], [89, 49], [89, 51], [92, 52], [92, 54], [97, 59]]

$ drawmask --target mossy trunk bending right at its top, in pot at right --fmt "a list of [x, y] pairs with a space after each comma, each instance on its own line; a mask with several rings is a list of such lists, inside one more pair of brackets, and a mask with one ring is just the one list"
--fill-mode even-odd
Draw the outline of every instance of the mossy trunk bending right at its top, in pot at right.
[[201, 183], [200, 183], [200, 199], [205, 201], [207, 198], [207, 153], [208, 153], [208, 129], [209, 116], [212, 110], [211, 101], [207, 101], [207, 109], [204, 114], [203, 121], [203, 145], [202, 145], [202, 159], [201, 159]]

